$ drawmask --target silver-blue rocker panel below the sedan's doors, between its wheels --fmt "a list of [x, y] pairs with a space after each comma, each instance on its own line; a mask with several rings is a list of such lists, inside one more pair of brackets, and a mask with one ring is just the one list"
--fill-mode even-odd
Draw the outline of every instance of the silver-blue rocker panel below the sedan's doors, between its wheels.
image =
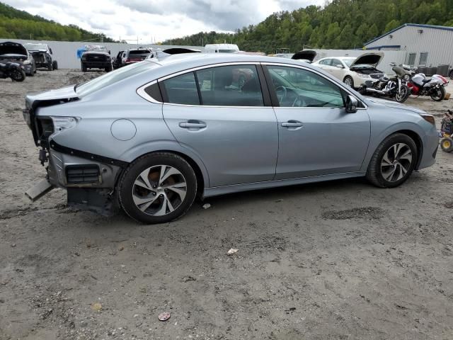
[[334, 181], [336, 179], [350, 179], [353, 177], [362, 177], [367, 174], [367, 171], [347, 172], [344, 174], [330, 174], [320, 176], [302, 177], [300, 179], [280, 179], [277, 181], [266, 181], [256, 183], [234, 184], [231, 186], [215, 186], [212, 188], [205, 188], [203, 197], [212, 197], [224, 195], [226, 193], [237, 193], [240, 191], [251, 191], [266, 188], [277, 188], [279, 186], [294, 186], [304, 183], [315, 183], [322, 181]]

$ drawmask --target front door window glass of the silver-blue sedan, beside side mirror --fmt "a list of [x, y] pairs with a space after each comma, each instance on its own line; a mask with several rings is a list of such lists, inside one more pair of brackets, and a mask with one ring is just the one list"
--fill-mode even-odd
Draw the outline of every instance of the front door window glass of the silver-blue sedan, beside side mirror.
[[328, 79], [306, 69], [268, 67], [278, 102], [283, 107], [343, 108], [343, 92]]

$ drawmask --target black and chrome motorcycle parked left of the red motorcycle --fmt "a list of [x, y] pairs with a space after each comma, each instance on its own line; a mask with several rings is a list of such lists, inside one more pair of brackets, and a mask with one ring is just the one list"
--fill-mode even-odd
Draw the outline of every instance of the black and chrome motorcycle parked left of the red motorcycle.
[[394, 62], [390, 66], [396, 74], [395, 77], [383, 76], [377, 80], [367, 80], [360, 86], [360, 94], [394, 98], [398, 103], [404, 103], [411, 95], [411, 89], [408, 87], [411, 76], [406, 69], [396, 66]]

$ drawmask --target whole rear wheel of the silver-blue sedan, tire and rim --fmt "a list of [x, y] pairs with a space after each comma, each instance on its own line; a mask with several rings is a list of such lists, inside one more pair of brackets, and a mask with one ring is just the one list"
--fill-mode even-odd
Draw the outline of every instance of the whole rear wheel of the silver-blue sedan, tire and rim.
[[[162, 174], [170, 174], [164, 178], [164, 185], [159, 183]], [[134, 220], [165, 223], [183, 216], [192, 206], [197, 178], [182, 157], [156, 152], [140, 157], [127, 167], [117, 192], [122, 209]]]

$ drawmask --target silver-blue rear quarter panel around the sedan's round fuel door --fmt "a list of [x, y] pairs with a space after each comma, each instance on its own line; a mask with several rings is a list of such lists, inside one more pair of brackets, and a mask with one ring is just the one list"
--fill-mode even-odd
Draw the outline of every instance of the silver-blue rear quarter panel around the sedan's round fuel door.
[[[146, 80], [139, 84], [146, 84]], [[176, 152], [193, 159], [209, 186], [207, 169], [200, 157], [176, 141], [164, 121], [162, 105], [138, 96], [137, 87], [108, 86], [79, 101], [39, 108], [38, 115], [81, 118], [76, 128], [52, 137], [59, 145], [129, 163], [150, 152]], [[132, 139], [118, 140], [113, 136], [111, 126], [119, 119], [134, 123], [137, 131]]]

